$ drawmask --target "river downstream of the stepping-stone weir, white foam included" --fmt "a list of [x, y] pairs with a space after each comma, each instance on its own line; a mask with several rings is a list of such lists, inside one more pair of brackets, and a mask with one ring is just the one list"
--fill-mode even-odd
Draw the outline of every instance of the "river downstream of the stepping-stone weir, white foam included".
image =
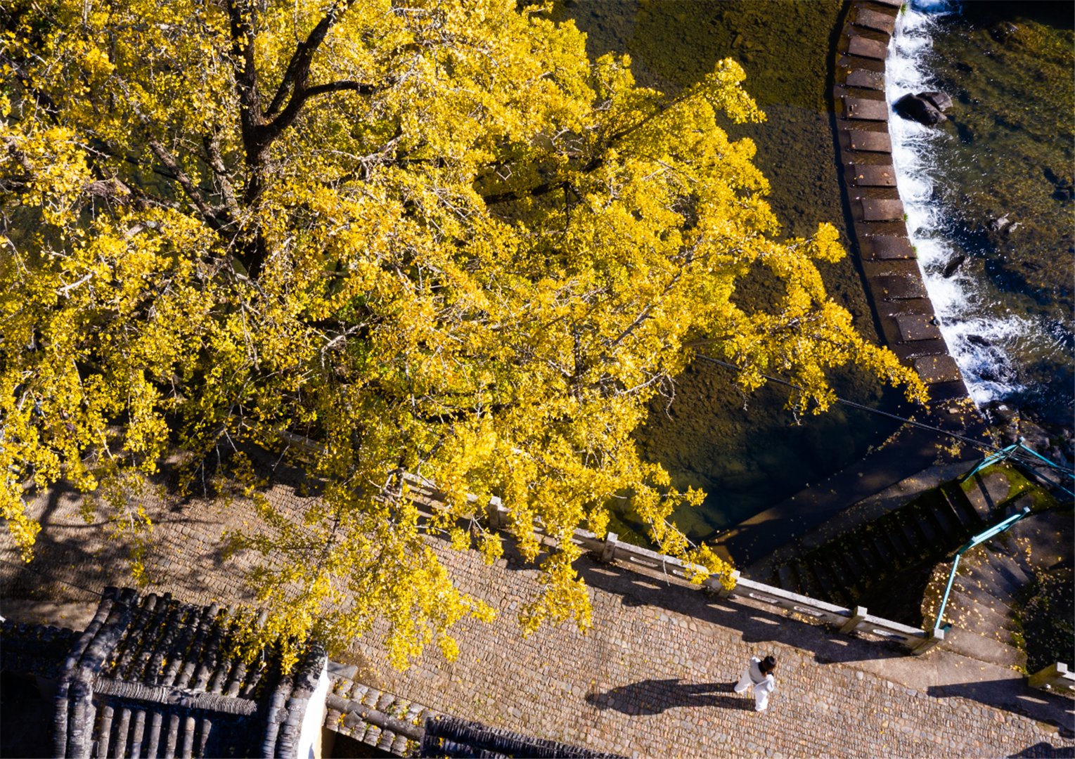
[[948, 346], [979, 406], [1072, 426], [1075, 34], [1071, 3], [915, 0], [889, 102], [951, 96], [949, 120], [892, 116], [900, 194]]

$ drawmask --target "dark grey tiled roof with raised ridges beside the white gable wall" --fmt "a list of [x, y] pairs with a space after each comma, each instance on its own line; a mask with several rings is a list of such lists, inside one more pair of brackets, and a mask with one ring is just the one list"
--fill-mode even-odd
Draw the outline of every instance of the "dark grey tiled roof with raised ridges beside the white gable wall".
[[293, 757], [326, 655], [290, 675], [278, 657], [228, 655], [228, 613], [106, 588], [60, 669], [56, 756]]

